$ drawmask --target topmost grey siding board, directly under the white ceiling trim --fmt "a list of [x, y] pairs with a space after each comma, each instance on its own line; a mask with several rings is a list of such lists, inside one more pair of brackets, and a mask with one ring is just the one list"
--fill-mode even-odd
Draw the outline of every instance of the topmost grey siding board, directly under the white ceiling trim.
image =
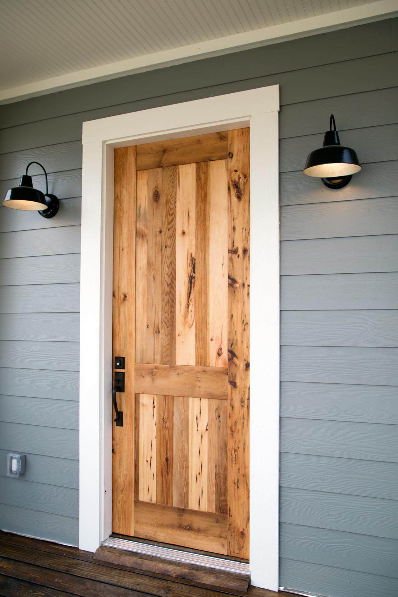
[[0, 115], [3, 126], [14, 127], [23, 122], [112, 106], [116, 102], [152, 99], [154, 89], [169, 95], [390, 51], [390, 23], [387, 21], [353, 27], [349, 32], [347, 35], [345, 30], [340, 30], [160, 68], [91, 84], [89, 91], [74, 88], [24, 100], [19, 105], [6, 104], [1, 107]]

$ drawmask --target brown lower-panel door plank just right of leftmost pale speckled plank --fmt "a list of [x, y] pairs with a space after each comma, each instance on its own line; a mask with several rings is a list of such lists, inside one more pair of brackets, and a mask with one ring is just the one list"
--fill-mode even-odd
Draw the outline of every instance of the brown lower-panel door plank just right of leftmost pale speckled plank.
[[174, 396], [156, 396], [156, 503], [172, 506]]

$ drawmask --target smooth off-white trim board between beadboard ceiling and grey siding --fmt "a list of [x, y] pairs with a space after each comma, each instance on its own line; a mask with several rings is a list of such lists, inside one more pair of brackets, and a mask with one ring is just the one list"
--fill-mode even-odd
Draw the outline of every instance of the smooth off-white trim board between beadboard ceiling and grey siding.
[[345, 27], [371, 21], [389, 19], [394, 16], [398, 16], [397, 0], [380, 0], [372, 2], [372, 4], [347, 8], [292, 23], [282, 23], [273, 27], [264, 27], [255, 31], [212, 39], [200, 44], [186, 45], [174, 50], [146, 54], [137, 58], [103, 64], [103, 66], [5, 89], [0, 91], [0, 104], [20, 101], [29, 97], [41, 96], [90, 83], [107, 81], [145, 70], [154, 70], [172, 66], [173, 64], [181, 64], [239, 50], [248, 50], [262, 45], [276, 44], [289, 39], [344, 29]]

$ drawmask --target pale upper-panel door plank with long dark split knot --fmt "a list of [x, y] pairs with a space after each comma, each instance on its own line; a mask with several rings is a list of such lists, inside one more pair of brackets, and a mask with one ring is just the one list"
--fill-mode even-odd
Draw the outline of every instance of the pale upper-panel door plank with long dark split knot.
[[177, 167], [176, 313], [177, 365], [195, 365], [195, 164]]

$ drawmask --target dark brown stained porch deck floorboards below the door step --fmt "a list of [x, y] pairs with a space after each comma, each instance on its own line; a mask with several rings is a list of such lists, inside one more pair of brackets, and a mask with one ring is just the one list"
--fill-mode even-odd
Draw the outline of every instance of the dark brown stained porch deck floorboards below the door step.
[[197, 581], [155, 574], [94, 553], [0, 531], [0, 595], [4, 597], [292, 597], [249, 587], [214, 590]]

